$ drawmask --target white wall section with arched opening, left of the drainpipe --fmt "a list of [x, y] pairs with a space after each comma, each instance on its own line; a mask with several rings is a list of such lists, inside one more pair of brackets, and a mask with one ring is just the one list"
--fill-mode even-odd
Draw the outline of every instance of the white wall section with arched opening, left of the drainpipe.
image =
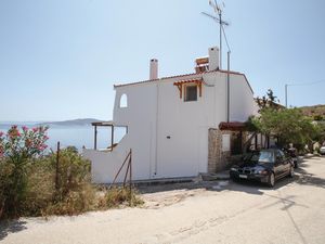
[[[128, 126], [130, 147], [132, 147], [134, 179], [151, 179], [152, 162], [155, 155], [156, 131], [156, 86], [143, 84], [116, 89], [114, 123]], [[122, 94], [128, 97], [128, 107], [119, 107]]]

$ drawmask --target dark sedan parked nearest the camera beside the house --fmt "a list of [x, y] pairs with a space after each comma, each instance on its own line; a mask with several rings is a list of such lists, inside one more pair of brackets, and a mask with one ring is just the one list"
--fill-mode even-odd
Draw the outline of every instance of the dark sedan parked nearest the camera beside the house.
[[274, 187], [277, 179], [285, 176], [294, 177], [294, 163], [278, 149], [253, 152], [240, 166], [233, 166], [230, 170], [231, 179], [258, 180]]

